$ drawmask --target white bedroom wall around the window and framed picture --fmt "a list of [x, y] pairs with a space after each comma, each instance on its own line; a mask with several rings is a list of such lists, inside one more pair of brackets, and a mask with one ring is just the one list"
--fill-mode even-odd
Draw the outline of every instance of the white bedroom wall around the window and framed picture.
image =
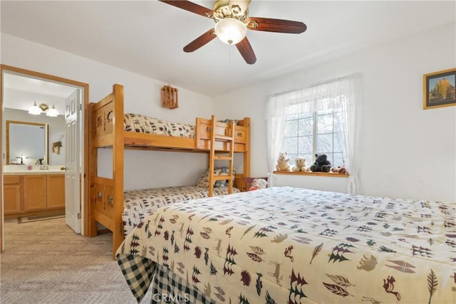
[[[267, 96], [361, 73], [363, 193], [456, 201], [456, 107], [423, 110], [423, 74], [455, 68], [455, 54], [452, 23], [218, 96], [215, 114], [252, 117], [251, 175], [264, 176]], [[346, 191], [342, 178], [276, 178], [279, 184]]]

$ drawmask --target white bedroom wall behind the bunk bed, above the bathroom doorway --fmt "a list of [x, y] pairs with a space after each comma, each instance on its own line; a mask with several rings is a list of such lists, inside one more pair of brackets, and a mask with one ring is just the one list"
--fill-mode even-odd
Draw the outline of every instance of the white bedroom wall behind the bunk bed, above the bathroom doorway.
[[[207, 96], [178, 88], [179, 108], [165, 109], [160, 104], [165, 83], [4, 33], [0, 39], [2, 64], [88, 83], [90, 102], [105, 97], [119, 83], [125, 86], [125, 112], [191, 124], [195, 117], [212, 115], [212, 98]], [[110, 151], [100, 150], [98, 159], [100, 175], [108, 176]], [[204, 154], [127, 151], [125, 189], [195, 184], [206, 167]]]

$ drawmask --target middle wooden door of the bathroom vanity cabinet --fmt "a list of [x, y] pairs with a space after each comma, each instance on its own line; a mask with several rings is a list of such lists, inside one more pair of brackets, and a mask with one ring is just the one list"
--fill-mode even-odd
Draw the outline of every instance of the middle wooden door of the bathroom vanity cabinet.
[[24, 175], [24, 211], [46, 210], [46, 175]]

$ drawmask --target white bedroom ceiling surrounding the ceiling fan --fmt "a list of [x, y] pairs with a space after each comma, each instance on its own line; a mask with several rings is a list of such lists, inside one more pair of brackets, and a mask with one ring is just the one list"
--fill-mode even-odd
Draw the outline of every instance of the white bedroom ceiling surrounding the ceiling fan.
[[[194, 1], [212, 9], [213, 1]], [[249, 16], [306, 23], [301, 34], [248, 31], [257, 63], [214, 39], [182, 48], [212, 19], [159, 1], [0, 1], [1, 32], [208, 96], [455, 22], [455, 1], [260, 1]]]

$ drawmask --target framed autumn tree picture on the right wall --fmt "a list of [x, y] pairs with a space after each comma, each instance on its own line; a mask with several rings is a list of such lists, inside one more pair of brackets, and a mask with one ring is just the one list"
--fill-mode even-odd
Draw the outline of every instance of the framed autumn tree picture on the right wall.
[[456, 105], [456, 68], [423, 75], [423, 109]]

